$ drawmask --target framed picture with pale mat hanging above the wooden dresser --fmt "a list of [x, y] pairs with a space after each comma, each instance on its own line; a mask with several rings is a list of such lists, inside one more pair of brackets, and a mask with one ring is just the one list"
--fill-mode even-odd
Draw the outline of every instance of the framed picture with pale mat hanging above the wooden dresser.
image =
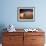
[[18, 21], [35, 21], [35, 8], [34, 7], [18, 7], [17, 8]]

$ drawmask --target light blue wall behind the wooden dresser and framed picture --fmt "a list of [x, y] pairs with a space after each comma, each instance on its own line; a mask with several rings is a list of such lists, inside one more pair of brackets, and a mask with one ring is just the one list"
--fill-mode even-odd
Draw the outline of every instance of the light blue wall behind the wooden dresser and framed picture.
[[[35, 22], [18, 22], [17, 7], [35, 7]], [[42, 28], [46, 32], [46, 0], [0, 0], [0, 31], [13, 24], [16, 28]]]

